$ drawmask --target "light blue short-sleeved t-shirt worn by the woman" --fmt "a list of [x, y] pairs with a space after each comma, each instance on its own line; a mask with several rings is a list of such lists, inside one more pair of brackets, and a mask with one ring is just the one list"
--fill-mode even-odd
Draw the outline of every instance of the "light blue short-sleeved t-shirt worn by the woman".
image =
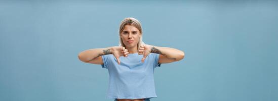
[[101, 66], [108, 69], [109, 72], [106, 98], [157, 97], [153, 73], [154, 68], [161, 66], [161, 64], [158, 64], [159, 56], [160, 54], [150, 53], [142, 63], [143, 55], [138, 55], [138, 53], [129, 54], [128, 57], [120, 57], [120, 65], [112, 54], [101, 56], [103, 61]]

